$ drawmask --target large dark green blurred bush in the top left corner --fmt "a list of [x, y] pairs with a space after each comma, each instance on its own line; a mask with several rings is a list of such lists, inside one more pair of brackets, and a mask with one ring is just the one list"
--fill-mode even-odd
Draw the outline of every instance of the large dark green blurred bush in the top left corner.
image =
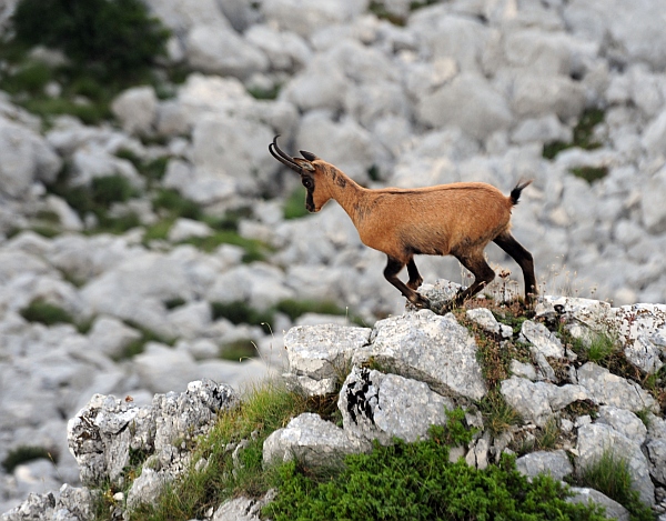
[[[20, 0], [12, 21], [14, 37], [0, 46], [9, 64], [0, 71], [0, 89], [47, 124], [58, 114], [97, 124], [111, 118], [111, 101], [122, 90], [151, 83], [169, 93], [165, 81], [182, 81], [175, 68], [154, 72], [169, 31], [140, 0]], [[60, 50], [64, 60], [31, 58], [36, 46]]]

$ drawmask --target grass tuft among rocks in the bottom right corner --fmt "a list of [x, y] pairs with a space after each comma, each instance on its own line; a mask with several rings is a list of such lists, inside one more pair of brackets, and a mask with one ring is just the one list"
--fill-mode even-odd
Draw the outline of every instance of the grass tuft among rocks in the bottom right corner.
[[626, 460], [610, 450], [579, 473], [576, 484], [589, 487], [614, 499], [625, 507], [632, 521], [654, 521], [655, 514], [640, 501], [636, 490], [632, 488], [632, 474]]

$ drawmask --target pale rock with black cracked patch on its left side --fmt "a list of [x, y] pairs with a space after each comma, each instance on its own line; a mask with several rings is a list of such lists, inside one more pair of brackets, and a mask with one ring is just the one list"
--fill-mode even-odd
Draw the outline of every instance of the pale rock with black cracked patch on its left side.
[[340, 391], [337, 408], [345, 432], [389, 444], [425, 439], [433, 424], [446, 423], [454, 403], [415, 380], [354, 367]]

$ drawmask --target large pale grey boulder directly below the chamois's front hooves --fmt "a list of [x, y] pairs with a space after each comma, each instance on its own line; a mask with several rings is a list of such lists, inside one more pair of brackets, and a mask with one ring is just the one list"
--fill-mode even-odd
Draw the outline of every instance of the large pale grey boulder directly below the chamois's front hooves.
[[442, 394], [478, 400], [486, 393], [476, 342], [451, 313], [441, 317], [421, 310], [377, 321], [371, 344], [356, 350], [353, 362], [371, 358]]

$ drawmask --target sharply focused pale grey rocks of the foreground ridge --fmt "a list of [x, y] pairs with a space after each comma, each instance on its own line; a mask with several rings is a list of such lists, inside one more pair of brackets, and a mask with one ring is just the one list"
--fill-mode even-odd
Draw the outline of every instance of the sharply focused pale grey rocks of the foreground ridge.
[[[456, 284], [440, 281], [425, 291], [436, 298], [455, 289]], [[599, 301], [546, 297], [534, 318], [519, 327], [511, 320], [505, 323], [509, 318], [480, 305], [444, 317], [430, 310], [406, 311], [374, 328], [292, 328], [285, 334], [289, 372], [283, 378], [312, 397], [340, 389], [342, 427], [314, 413], [293, 418], [264, 441], [264, 463], [297, 458], [311, 468], [369, 450], [373, 440], [416, 441], [427, 435], [430, 425], [446, 423], [445, 410], [463, 407], [467, 423], [478, 428], [472, 443], [456, 449], [456, 457], [468, 464], [483, 469], [502, 453], [518, 450], [521, 472], [549, 472], [564, 479], [612, 451], [626, 460], [640, 501], [666, 519], [664, 389], [648, 391], [639, 383], [642, 377], [636, 377], [644, 372], [634, 373], [646, 363], [653, 364], [647, 374], [663, 367], [666, 307], [610, 308]], [[615, 355], [628, 360], [628, 368], [618, 371], [607, 359], [609, 352], [595, 358], [593, 338], [602, 331], [614, 331]], [[480, 343], [488, 337], [511, 358], [509, 373], [496, 383], [488, 380], [493, 369], [484, 361], [487, 347]], [[574, 345], [572, 339], [581, 342]], [[336, 387], [340, 381], [342, 388]], [[519, 414], [519, 421], [501, 430], [492, 425], [493, 412], [480, 409], [496, 391]], [[152, 404], [142, 407], [95, 394], [68, 425], [69, 450], [87, 487], [63, 485], [60, 492], [31, 494], [2, 519], [91, 519], [95, 490], [105, 483], [128, 490], [114, 495], [114, 517], [141, 502], [154, 502], [164, 484], [192, 463], [205, 464], [192, 461], [190, 441], [206, 433], [218, 412], [235, 407], [238, 400], [231, 387], [211, 380], [192, 382], [180, 394], [155, 394]], [[544, 441], [546, 432], [551, 442]], [[243, 442], [228, 448], [234, 461], [243, 449]], [[147, 459], [140, 475], [131, 478], [125, 470], [138, 451]], [[622, 505], [602, 493], [574, 490], [576, 500], [592, 499], [605, 505], [608, 515], [629, 519]], [[258, 519], [255, 513], [265, 501], [270, 498], [259, 503], [235, 499], [210, 515], [216, 521]]]

